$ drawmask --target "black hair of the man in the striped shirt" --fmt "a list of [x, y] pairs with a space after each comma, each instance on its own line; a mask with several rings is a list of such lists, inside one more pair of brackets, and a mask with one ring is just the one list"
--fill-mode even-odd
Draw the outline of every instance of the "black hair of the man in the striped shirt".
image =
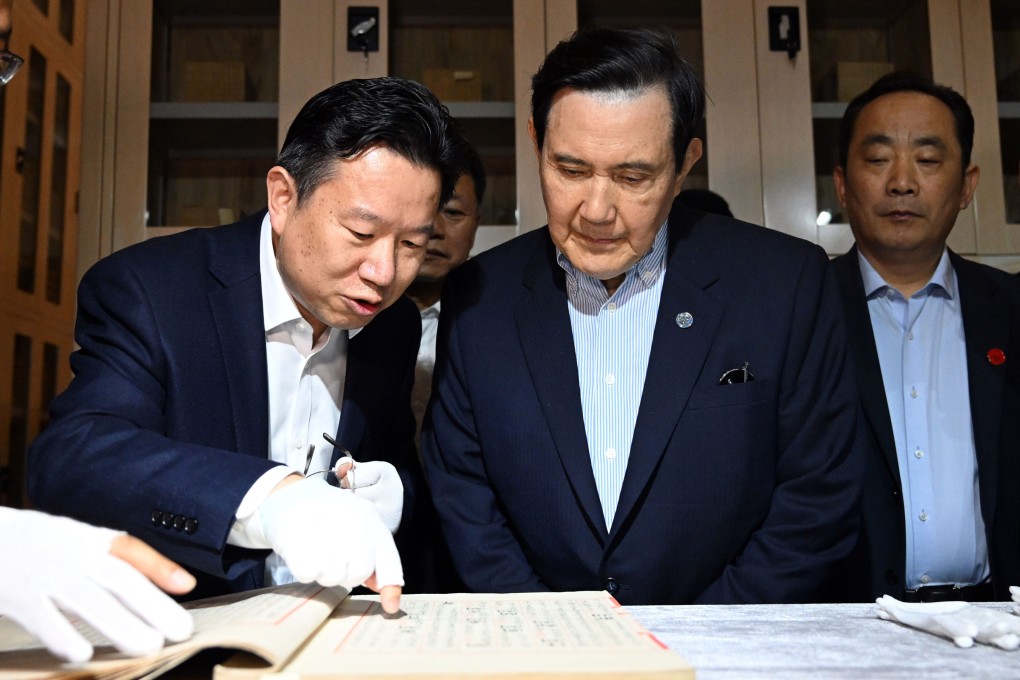
[[666, 29], [581, 29], [561, 42], [531, 77], [531, 118], [539, 149], [560, 90], [643, 93], [663, 88], [672, 111], [676, 170], [705, 115], [705, 90]]

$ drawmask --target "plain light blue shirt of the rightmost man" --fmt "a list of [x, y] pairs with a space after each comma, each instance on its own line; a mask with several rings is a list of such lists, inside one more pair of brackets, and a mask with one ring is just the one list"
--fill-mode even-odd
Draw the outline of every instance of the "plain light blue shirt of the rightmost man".
[[949, 253], [907, 300], [858, 257], [896, 437], [907, 587], [980, 583], [988, 576], [988, 550], [960, 289]]

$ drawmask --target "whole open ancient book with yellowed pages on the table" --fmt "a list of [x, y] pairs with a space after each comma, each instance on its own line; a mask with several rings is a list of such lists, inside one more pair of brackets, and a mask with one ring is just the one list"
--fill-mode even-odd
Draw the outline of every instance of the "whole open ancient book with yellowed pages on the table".
[[237, 650], [217, 680], [695, 677], [606, 592], [404, 595], [390, 617], [375, 597], [292, 584], [187, 607], [190, 640], [130, 659], [90, 631], [96, 656], [82, 666], [0, 617], [0, 680], [152, 678], [211, 648]]

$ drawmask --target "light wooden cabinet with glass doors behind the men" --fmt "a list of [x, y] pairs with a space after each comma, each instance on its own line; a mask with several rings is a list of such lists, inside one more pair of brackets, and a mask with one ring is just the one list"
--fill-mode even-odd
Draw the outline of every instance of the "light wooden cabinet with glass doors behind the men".
[[[384, 0], [372, 5], [379, 50], [367, 57], [347, 49], [348, 9], [366, 4], [90, 2], [83, 266], [167, 228], [256, 209], [301, 104], [336, 81], [391, 73], [432, 85], [482, 152], [491, 189], [475, 252], [541, 226], [531, 74], [577, 27], [662, 24], [688, 48], [709, 96], [706, 153], [688, 188], [721, 194], [740, 218], [846, 251], [853, 239], [831, 188], [846, 100], [886, 68], [911, 68], [963, 93], [977, 121], [981, 179], [951, 245], [1020, 268], [1016, 0], [789, 0], [800, 11], [793, 57], [769, 49], [766, 0]], [[231, 97], [242, 101], [187, 101], [189, 72], [201, 76], [208, 62], [222, 77], [235, 69]]]

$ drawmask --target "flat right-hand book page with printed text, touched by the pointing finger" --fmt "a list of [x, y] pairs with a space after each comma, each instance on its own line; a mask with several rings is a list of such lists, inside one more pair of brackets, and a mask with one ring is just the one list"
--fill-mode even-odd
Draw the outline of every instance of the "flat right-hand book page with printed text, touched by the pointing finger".
[[[348, 598], [274, 677], [694, 678], [606, 592]], [[217, 677], [219, 677], [217, 675]]]

